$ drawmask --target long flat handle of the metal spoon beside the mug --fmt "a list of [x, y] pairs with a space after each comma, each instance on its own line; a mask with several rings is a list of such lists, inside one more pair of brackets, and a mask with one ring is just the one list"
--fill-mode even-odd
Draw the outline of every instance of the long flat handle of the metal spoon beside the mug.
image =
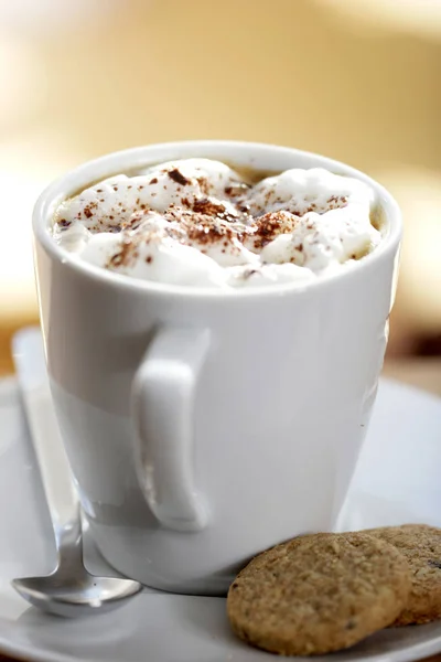
[[80, 532], [79, 505], [52, 405], [43, 339], [37, 327], [20, 330], [12, 352], [58, 553]]

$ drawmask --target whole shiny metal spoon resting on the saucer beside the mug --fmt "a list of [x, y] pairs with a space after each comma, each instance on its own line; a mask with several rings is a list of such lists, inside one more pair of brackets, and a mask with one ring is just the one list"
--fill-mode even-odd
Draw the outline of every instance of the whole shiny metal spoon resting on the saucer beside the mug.
[[51, 575], [13, 579], [35, 607], [64, 617], [103, 613], [138, 594], [138, 581], [96, 577], [83, 564], [82, 519], [53, 412], [40, 330], [24, 329], [12, 343], [26, 419], [55, 534], [58, 563]]

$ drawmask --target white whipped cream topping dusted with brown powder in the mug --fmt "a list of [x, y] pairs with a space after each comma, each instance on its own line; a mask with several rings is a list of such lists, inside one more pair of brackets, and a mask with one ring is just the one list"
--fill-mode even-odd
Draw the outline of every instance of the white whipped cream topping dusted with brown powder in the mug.
[[183, 159], [118, 174], [61, 204], [55, 241], [143, 280], [238, 288], [304, 284], [380, 242], [374, 191], [322, 168], [248, 184], [225, 163]]

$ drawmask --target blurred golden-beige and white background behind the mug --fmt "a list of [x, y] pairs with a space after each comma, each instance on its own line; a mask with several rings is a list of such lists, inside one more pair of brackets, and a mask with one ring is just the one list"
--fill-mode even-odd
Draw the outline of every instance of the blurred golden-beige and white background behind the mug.
[[430, 369], [441, 391], [441, 0], [0, 0], [0, 99], [1, 374], [37, 319], [45, 184], [126, 147], [237, 138], [346, 161], [396, 195], [387, 367]]

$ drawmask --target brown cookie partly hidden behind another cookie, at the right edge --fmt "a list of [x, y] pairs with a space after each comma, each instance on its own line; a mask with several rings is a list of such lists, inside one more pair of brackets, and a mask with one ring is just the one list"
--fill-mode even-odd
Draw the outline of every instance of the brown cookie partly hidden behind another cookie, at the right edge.
[[[367, 533], [367, 532], [366, 532]], [[441, 528], [405, 524], [368, 532], [394, 545], [410, 566], [408, 604], [394, 626], [428, 623], [441, 618]]]

